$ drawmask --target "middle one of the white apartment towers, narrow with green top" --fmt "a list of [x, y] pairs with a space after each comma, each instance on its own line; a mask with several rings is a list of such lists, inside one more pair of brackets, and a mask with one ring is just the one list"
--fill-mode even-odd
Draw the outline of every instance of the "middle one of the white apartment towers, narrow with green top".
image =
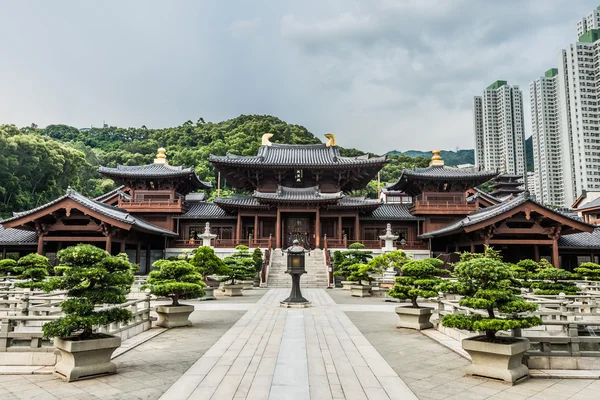
[[558, 69], [552, 68], [529, 84], [534, 163], [534, 185], [529, 185], [529, 191], [534, 189], [536, 200], [543, 204], [564, 206], [559, 80]]

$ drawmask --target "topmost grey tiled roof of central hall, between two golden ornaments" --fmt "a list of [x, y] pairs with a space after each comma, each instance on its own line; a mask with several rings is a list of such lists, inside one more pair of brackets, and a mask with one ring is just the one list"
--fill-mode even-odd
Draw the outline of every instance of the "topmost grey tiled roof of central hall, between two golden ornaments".
[[337, 146], [325, 144], [278, 144], [261, 146], [256, 156], [238, 156], [227, 153], [225, 156], [210, 155], [209, 161], [218, 164], [264, 165], [264, 166], [359, 166], [381, 165], [387, 162], [386, 156], [342, 157]]

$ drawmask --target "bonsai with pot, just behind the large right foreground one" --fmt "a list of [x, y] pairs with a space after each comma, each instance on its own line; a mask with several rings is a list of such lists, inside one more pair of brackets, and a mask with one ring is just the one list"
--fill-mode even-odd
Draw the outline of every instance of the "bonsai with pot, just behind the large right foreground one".
[[437, 285], [442, 282], [440, 276], [447, 273], [439, 269], [442, 265], [444, 262], [437, 258], [427, 258], [411, 260], [402, 266], [402, 276], [396, 277], [396, 283], [388, 292], [391, 297], [409, 299], [411, 302], [410, 306], [396, 307], [396, 314], [400, 317], [398, 328], [433, 328], [429, 321], [433, 308], [419, 306], [417, 299], [438, 296]]

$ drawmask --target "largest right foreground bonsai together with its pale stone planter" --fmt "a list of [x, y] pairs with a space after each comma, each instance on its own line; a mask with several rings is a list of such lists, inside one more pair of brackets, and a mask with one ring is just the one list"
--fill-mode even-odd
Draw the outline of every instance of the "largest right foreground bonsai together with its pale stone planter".
[[454, 267], [462, 294], [459, 304], [481, 312], [445, 315], [441, 323], [448, 328], [483, 332], [462, 341], [471, 356], [468, 375], [501, 379], [514, 383], [527, 376], [529, 369], [522, 363], [529, 349], [529, 340], [522, 337], [498, 336], [498, 331], [541, 325], [538, 317], [528, 313], [537, 305], [517, 297], [510, 287], [513, 272], [502, 262], [497, 252], [487, 251], [472, 257], [461, 257]]

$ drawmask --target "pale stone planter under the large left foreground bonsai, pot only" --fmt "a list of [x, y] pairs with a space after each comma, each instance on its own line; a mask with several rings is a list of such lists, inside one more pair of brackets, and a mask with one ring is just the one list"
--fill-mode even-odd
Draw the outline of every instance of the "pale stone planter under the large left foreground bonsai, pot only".
[[120, 345], [121, 338], [110, 335], [90, 340], [55, 338], [54, 346], [60, 356], [54, 374], [67, 382], [114, 374], [117, 366], [110, 357]]

